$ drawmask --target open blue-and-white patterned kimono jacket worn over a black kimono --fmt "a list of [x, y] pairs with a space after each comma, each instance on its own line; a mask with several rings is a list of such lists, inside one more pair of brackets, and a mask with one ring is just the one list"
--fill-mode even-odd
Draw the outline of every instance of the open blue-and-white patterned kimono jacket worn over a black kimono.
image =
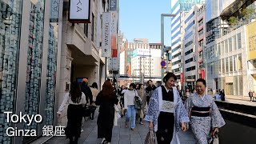
[[[173, 90], [174, 93], [174, 134], [171, 144], [180, 143], [178, 140], [178, 132], [181, 130], [180, 123], [190, 122], [190, 119], [186, 113], [186, 109], [182, 103], [182, 99], [178, 94], [178, 90]], [[162, 106], [162, 87], [159, 86], [150, 98], [150, 105], [146, 113], [145, 120], [153, 122], [154, 131], [158, 131], [158, 116], [160, 114], [160, 108]]]

